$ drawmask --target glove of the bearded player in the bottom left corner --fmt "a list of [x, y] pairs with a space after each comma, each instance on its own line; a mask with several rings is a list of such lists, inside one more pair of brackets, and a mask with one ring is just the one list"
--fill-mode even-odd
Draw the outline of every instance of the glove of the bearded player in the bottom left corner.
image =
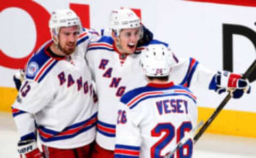
[[20, 141], [18, 143], [18, 152], [22, 158], [44, 158], [43, 154], [37, 148], [34, 139]]

